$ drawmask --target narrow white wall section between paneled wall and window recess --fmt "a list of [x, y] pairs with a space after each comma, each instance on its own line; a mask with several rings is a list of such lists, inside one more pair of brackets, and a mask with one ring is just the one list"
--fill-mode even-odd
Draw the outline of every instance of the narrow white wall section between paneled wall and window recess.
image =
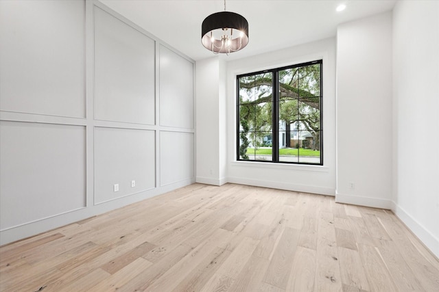
[[196, 63], [198, 183], [226, 183], [225, 68], [219, 57]]

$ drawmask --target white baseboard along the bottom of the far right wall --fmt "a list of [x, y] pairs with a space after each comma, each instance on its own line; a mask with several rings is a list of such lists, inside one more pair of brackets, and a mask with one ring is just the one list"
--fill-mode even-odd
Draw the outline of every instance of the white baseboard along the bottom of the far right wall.
[[418, 220], [414, 219], [412, 215], [407, 213], [395, 202], [392, 202], [392, 211], [397, 217], [409, 228], [420, 241], [439, 258], [439, 239], [435, 237], [429, 230], [427, 230]]

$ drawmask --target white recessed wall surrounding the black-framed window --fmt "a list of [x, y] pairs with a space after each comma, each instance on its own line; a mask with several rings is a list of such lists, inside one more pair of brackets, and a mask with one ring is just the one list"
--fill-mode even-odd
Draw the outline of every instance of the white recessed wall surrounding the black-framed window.
[[[324, 165], [290, 165], [236, 161], [236, 76], [323, 59]], [[335, 39], [230, 61], [227, 64], [227, 173], [230, 183], [242, 183], [316, 194], [335, 194]]]

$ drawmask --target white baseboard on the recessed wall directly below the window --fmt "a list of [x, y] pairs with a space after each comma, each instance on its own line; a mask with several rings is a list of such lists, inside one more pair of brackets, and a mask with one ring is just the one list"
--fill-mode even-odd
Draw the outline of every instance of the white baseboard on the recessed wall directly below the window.
[[302, 193], [311, 193], [319, 195], [334, 196], [335, 189], [330, 187], [316, 187], [315, 185], [298, 185], [295, 183], [284, 183], [278, 181], [262, 181], [252, 178], [228, 177], [228, 183], [237, 183], [239, 185], [253, 185], [255, 187], [270, 187], [272, 189], [285, 189], [287, 191], [300, 191]]

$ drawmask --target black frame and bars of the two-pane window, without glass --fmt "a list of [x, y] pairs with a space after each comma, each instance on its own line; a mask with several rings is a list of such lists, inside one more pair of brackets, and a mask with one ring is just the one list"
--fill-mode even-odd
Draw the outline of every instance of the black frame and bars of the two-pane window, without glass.
[[[305, 67], [310, 65], [320, 64], [320, 163], [309, 163], [309, 162], [298, 162], [295, 161], [279, 161], [279, 90], [278, 90], [278, 72], [281, 70], [287, 70], [298, 67]], [[239, 137], [239, 79], [241, 77], [249, 77], [252, 75], [259, 75], [263, 73], [272, 73], [272, 160], [264, 161], [264, 160], [250, 160], [250, 159], [241, 159], [239, 155], [239, 146], [240, 146], [240, 137]], [[267, 162], [267, 163], [282, 163], [282, 164], [295, 164], [295, 165], [323, 165], [323, 59], [317, 59], [311, 62], [293, 64], [289, 66], [283, 66], [279, 68], [272, 68], [268, 70], [261, 70], [257, 72], [250, 72], [246, 74], [237, 75], [236, 77], [236, 160], [237, 161], [250, 161], [250, 162]], [[299, 155], [300, 157], [300, 155]]]

